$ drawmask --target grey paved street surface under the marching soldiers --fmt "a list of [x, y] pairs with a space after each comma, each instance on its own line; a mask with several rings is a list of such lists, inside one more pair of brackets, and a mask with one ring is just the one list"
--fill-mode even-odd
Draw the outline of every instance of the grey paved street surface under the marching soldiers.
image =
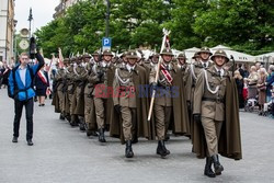
[[25, 141], [25, 113], [18, 144], [12, 144], [13, 101], [0, 90], [0, 183], [185, 183], [274, 182], [274, 119], [240, 113], [243, 159], [220, 158], [225, 171], [216, 179], [203, 174], [205, 160], [191, 152], [191, 141], [172, 137], [171, 155], [156, 155], [157, 141], [141, 139], [134, 145], [135, 158], [124, 157], [125, 147], [106, 134], [106, 145], [71, 128], [54, 113], [50, 101], [35, 103], [34, 146]]

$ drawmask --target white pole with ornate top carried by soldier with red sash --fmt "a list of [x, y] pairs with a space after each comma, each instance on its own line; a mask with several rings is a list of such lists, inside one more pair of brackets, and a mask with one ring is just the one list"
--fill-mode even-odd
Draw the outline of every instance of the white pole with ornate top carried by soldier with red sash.
[[[162, 46], [161, 46], [160, 54], [162, 53], [162, 50], [167, 46], [165, 44], [168, 41], [168, 36], [170, 34], [170, 31], [168, 31], [165, 28], [163, 28], [162, 32], [163, 32], [163, 38], [162, 38]], [[155, 82], [158, 82], [161, 62], [162, 62], [162, 57], [160, 57], [158, 65], [157, 65]], [[153, 108], [153, 103], [155, 103], [155, 95], [156, 95], [156, 90], [152, 91], [152, 95], [151, 95], [150, 106], [149, 106], [149, 111], [148, 111], [148, 122], [150, 122], [150, 119], [151, 119], [152, 108]]]

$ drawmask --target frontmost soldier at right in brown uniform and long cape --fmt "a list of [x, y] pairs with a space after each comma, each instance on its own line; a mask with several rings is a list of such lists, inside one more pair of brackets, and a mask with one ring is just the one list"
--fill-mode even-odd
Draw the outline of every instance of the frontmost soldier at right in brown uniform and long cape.
[[197, 78], [193, 114], [195, 125], [202, 124], [204, 130], [203, 135], [199, 127], [195, 128], [194, 134], [202, 138], [194, 139], [194, 152], [202, 158], [206, 156], [204, 174], [215, 178], [224, 171], [218, 153], [241, 159], [241, 141], [237, 88], [232, 77], [224, 69], [229, 58], [224, 50], [217, 50], [212, 59], [215, 66], [203, 70]]

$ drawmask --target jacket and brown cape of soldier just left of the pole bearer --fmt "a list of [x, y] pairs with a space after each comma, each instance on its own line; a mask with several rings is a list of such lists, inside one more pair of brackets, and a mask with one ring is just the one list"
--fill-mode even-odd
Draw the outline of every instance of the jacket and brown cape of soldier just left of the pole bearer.
[[[135, 91], [128, 91], [125, 93], [125, 91], [121, 91], [116, 95], [115, 88], [122, 87], [124, 83], [121, 83], [117, 78], [115, 77], [113, 81], [114, 87], [114, 104], [121, 104], [122, 106], [134, 106], [137, 111], [137, 136], [138, 137], [145, 137], [148, 139], [151, 139], [151, 123], [147, 122], [147, 113], [148, 113], [148, 98], [146, 95], [140, 94], [142, 87], [146, 87], [146, 70], [136, 65], [135, 69], [132, 72], [128, 72], [128, 70], [125, 70], [125, 68], [117, 68], [116, 71], [117, 75], [119, 75], [121, 79], [128, 78], [130, 81], [127, 83], [129, 87], [134, 87]], [[124, 84], [126, 87], [126, 84]], [[134, 92], [134, 93], [130, 93]], [[123, 94], [126, 94], [124, 98]], [[130, 100], [127, 99], [130, 94]], [[116, 98], [116, 96], [118, 98]], [[111, 119], [111, 136], [119, 137], [122, 142], [124, 142], [124, 135], [123, 135], [123, 125], [122, 125], [122, 118], [119, 115], [114, 111], [112, 113], [112, 119]]]

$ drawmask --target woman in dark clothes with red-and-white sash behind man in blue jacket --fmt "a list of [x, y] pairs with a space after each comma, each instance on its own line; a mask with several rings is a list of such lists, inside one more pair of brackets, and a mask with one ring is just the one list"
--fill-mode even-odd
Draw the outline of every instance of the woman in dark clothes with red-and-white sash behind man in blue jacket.
[[36, 96], [38, 98], [38, 106], [45, 106], [46, 92], [49, 87], [48, 72], [44, 70], [44, 67], [39, 69], [34, 79], [34, 85], [36, 90]]

